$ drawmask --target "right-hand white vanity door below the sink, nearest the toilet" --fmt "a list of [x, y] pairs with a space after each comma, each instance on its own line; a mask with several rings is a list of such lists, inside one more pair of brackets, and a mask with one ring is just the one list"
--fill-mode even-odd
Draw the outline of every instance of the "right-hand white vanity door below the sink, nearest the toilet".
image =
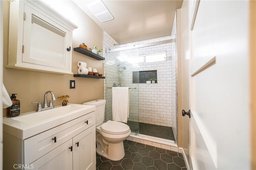
[[96, 129], [95, 125], [73, 138], [73, 169], [96, 169]]

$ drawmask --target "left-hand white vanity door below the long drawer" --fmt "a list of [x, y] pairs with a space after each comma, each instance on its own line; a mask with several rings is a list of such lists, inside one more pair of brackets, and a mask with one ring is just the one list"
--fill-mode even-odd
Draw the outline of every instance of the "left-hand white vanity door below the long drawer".
[[72, 139], [32, 162], [27, 168], [33, 170], [72, 170], [72, 152], [69, 147], [72, 147]]

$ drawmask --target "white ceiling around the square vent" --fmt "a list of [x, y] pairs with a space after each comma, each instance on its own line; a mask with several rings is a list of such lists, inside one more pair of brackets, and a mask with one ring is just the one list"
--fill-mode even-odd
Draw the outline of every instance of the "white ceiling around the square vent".
[[176, 9], [183, 0], [102, 0], [114, 20], [100, 22], [86, 7], [93, 0], [73, 0], [118, 43], [171, 35]]

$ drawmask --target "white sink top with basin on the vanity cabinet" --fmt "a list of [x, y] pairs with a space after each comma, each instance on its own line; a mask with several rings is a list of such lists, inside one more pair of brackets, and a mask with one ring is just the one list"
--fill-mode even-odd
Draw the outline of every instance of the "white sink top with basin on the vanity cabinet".
[[42, 131], [46, 131], [80, 116], [95, 111], [95, 106], [68, 104], [56, 106], [54, 109], [40, 112], [30, 111], [17, 117], [4, 117], [4, 133], [9, 133], [20, 139], [26, 139]]

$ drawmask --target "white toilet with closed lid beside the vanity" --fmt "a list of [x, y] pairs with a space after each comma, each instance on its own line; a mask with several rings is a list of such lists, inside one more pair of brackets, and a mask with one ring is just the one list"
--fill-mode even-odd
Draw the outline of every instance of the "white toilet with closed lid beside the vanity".
[[110, 160], [120, 160], [124, 157], [123, 141], [131, 134], [130, 127], [118, 121], [105, 120], [106, 100], [99, 99], [83, 103], [96, 106], [96, 152]]

